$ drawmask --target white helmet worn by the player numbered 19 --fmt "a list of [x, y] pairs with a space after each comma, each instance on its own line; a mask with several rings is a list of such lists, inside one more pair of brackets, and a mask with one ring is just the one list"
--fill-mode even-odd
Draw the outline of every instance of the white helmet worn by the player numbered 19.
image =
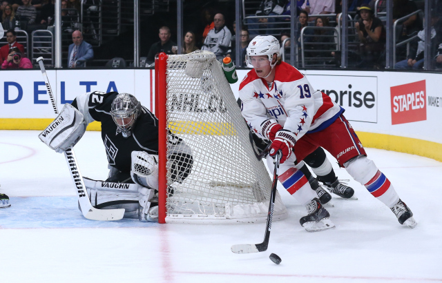
[[279, 41], [276, 37], [272, 35], [258, 35], [252, 39], [249, 46], [247, 46], [246, 63], [251, 64], [251, 56], [267, 55], [269, 57], [270, 66], [273, 68], [276, 65], [276, 62], [271, 64], [273, 54], [279, 57], [279, 50]]

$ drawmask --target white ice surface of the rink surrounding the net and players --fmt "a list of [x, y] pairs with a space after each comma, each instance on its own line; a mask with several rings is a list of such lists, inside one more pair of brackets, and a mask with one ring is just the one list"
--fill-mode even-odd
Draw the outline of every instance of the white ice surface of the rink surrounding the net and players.
[[[327, 206], [336, 228], [307, 233], [305, 208], [278, 186], [289, 217], [273, 222], [266, 252], [238, 255], [231, 245], [262, 242], [265, 224], [84, 219], [63, 155], [38, 133], [0, 131], [0, 191], [12, 203], [0, 210], [0, 282], [442, 282], [442, 163], [433, 159], [366, 149], [412, 209], [414, 229], [330, 157], [358, 197]], [[99, 133], [87, 132], [75, 153], [84, 176], [106, 178]]]

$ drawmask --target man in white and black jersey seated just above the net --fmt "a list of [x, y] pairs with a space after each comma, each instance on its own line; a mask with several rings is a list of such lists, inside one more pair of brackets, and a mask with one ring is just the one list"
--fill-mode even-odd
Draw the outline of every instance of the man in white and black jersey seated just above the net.
[[209, 31], [204, 40], [202, 50], [209, 50], [216, 55], [216, 59], [220, 60], [224, 57], [230, 57], [231, 53], [231, 32], [224, 25], [224, 15], [219, 13], [213, 17], [215, 27]]

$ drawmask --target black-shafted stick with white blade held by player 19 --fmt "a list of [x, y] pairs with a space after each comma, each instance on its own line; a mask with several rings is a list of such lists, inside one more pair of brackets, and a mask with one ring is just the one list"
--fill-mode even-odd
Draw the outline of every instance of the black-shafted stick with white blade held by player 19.
[[278, 184], [279, 160], [281, 152], [276, 153], [275, 170], [273, 170], [273, 184], [271, 185], [270, 201], [269, 201], [269, 216], [267, 217], [267, 226], [265, 227], [264, 242], [260, 244], [235, 244], [231, 246], [233, 253], [258, 253], [260, 251], [267, 251], [269, 246], [271, 219], [273, 217], [273, 207], [275, 206], [276, 186]]

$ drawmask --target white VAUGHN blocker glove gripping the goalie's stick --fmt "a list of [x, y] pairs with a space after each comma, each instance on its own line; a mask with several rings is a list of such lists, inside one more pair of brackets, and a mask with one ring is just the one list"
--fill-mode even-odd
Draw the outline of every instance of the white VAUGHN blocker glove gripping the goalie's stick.
[[74, 106], [65, 104], [58, 117], [41, 132], [39, 139], [57, 153], [61, 153], [77, 144], [86, 132], [86, 126], [83, 114]]

